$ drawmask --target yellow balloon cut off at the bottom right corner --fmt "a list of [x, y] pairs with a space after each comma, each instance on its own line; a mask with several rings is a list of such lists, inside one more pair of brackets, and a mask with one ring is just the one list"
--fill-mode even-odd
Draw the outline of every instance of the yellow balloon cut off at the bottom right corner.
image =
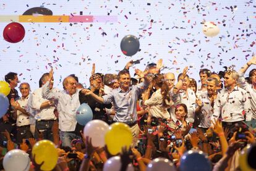
[[256, 144], [247, 145], [242, 149], [239, 156], [239, 167], [242, 171], [253, 171], [256, 170]]

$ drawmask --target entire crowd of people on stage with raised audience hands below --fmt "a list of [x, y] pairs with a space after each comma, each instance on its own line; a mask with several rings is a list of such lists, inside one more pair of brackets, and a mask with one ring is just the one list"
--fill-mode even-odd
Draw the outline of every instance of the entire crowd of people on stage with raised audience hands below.
[[[133, 65], [131, 60], [118, 74], [103, 74], [95, 73], [93, 64], [89, 88], [72, 74], [63, 80], [63, 90], [54, 88], [52, 69], [33, 92], [29, 83], [20, 83], [21, 97], [17, 73], [7, 73], [11, 92], [0, 120], [0, 169], [7, 152], [21, 149], [32, 161], [29, 170], [42, 170], [32, 148], [50, 140], [58, 149], [53, 170], [256, 170], [256, 69], [244, 77], [256, 56], [238, 72], [202, 69], [199, 83], [187, 75], [188, 67], [177, 81], [174, 73], [161, 73], [161, 59], [144, 71], [135, 69], [131, 78]], [[75, 119], [83, 103], [92, 109], [93, 120], [129, 126], [132, 144], [116, 158], [108, 146], [93, 146], [84, 136]], [[241, 163], [245, 149], [251, 156]]]

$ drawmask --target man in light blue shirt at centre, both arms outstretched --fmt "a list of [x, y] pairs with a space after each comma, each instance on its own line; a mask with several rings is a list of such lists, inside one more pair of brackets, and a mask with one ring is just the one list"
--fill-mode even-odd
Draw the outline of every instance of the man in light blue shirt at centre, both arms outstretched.
[[148, 88], [150, 80], [141, 70], [135, 69], [135, 73], [144, 78], [144, 81], [138, 85], [130, 86], [130, 73], [128, 70], [121, 70], [117, 77], [119, 88], [111, 91], [103, 97], [97, 96], [90, 90], [82, 90], [88, 96], [91, 96], [98, 102], [109, 104], [113, 102], [116, 115], [114, 122], [126, 123], [132, 131], [133, 146], [137, 144], [139, 135], [139, 126], [137, 124], [137, 100], [138, 96]]

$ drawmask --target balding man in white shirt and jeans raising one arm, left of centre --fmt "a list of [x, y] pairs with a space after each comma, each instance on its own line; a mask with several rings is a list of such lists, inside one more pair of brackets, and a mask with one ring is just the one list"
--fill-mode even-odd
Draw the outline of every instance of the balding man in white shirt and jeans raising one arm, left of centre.
[[59, 112], [59, 136], [62, 146], [71, 146], [71, 141], [80, 138], [75, 133], [77, 121], [75, 120], [75, 112], [80, 106], [79, 91], [76, 89], [77, 81], [74, 77], [64, 78], [62, 85], [63, 91], [51, 91], [53, 81], [53, 69], [49, 72], [48, 80], [42, 87], [43, 98], [58, 101], [57, 109]]

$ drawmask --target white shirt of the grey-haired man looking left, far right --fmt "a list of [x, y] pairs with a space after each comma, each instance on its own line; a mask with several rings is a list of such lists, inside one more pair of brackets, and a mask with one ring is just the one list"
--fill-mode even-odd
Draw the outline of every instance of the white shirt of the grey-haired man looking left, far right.
[[248, 93], [235, 86], [234, 90], [229, 93], [225, 88], [218, 93], [215, 99], [214, 112], [211, 120], [218, 119], [221, 115], [224, 122], [237, 122], [244, 120], [242, 112], [245, 111], [246, 121], [252, 119], [252, 111], [250, 110], [250, 101]]

